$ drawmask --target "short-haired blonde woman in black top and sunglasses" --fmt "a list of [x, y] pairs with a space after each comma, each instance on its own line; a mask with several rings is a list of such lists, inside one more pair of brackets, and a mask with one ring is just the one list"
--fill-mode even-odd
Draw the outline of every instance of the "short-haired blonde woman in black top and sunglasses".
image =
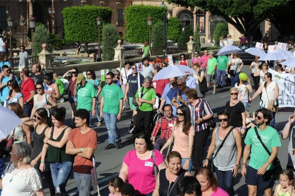
[[230, 101], [226, 102], [225, 110], [230, 113], [230, 126], [244, 134], [246, 131], [245, 107], [238, 99], [238, 94], [239, 90], [236, 87], [230, 88]]

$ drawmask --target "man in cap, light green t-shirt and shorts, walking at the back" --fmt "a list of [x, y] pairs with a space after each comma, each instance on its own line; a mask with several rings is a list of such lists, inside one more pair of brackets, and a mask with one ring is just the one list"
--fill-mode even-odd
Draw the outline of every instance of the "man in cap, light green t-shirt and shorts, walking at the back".
[[216, 94], [216, 84], [217, 84], [217, 72], [216, 72], [216, 67], [217, 67], [217, 59], [213, 56], [213, 52], [209, 52], [209, 59], [207, 62], [207, 68], [205, 72], [205, 77], [207, 79], [207, 86], [211, 84], [211, 81], [213, 83], [213, 92], [212, 94]]

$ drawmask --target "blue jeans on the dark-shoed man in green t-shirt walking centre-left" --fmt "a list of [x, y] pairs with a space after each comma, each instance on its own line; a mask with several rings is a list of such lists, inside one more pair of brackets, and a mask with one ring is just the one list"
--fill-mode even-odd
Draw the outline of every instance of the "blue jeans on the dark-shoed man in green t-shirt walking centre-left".
[[109, 144], [115, 144], [116, 141], [121, 141], [117, 128], [117, 115], [102, 112], [102, 117], [104, 118], [106, 129], [108, 131]]

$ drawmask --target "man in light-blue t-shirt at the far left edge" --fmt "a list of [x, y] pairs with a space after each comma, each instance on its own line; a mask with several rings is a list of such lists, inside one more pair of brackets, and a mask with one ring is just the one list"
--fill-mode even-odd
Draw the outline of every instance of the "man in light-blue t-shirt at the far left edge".
[[[6, 100], [6, 97], [9, 94], [9, 88], [8, 88], [8, 81], [11, 79], [15, 79], [17, 81], [18, 84], [19, 80], [17, 79], [17, 77], [15, 77], [10, 70], [10, 67], [8, 67], [8, 65], [3, 65], [2, 67], [2, 72], [0, 74], [0, 98], [1, 98], [1, 105], [4, 106], [4, 101]], [[8, 105], [7, 105], [8, 106]]]

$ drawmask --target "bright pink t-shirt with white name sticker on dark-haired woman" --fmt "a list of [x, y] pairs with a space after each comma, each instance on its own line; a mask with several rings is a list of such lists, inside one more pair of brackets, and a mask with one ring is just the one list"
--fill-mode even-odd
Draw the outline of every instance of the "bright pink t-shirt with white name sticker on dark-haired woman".
[[[155, 150], [156, 165], [164, 162], [160, 151]], [[140, 160], [136, 155], [136, 150], [127, 152], [123, 162], [128, 166], [128, 182], [134, 187], [135, 195], [146, 195], [152, 192], [156, 187], [154, 161], [153, 158]]]

